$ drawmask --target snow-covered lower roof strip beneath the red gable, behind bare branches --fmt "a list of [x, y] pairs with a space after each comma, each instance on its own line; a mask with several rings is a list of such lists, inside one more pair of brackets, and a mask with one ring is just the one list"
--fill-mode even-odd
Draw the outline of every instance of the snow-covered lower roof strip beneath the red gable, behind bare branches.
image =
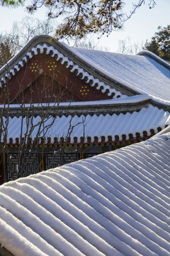
[[[85, 142], [87, 138], [91, 137], [91, 141], [94, 141], [94, 137], [98, 137], [98, 142], [101, 142], [101, 137], [111, 136], [113, 141], [115, 140], [115, 135], [118, 135], [122, 139], [122, 135], [125, 134], [127, 139], [129, 134], [132, 134], [133, 137], [136, 137], [136, 133], [139, 132], [143, 136], [143, 132], [146, 131], [150, 135], [150, 130], [154, 129], [154, 132], [158, 132], [158, 127], [164, 129], [166, 125], [170, 124], [170, 114], [164, 110], [159, 110], [158, 107], [153, 107], [149, 105], [148, 107], [143, 107], [139, 112], [130, 112], [126, 114], [81, 114], [74, 115], [72, 117], [64, 116], [57, 117], [54, 120], [54, 117], [47, 117], [47, 121], [43, 122], [43, 125], [40, 124], [41, 117], [32, 117], [30, 118], [30, 129], [33, 129], [33, 132], [30, 134], [30, 137], [34, 139], [35, 137], [51, 137], [52, 142], [55, 137], [60, 141], [61, 137], [68, 137], [69, 132], [73, 128], [70, 139], [71, 143], [74, 142], [74, 137], [77, 137], [78, 142], [81, 141], [81, 137], [85, 137]], [[54, 122], [54, 123], [53, 123]], [[51, 125], [52, 124], [52, 125]], [[70, 126], [71, 124], [71, 126]], [[77, 125], [78, 124], [78, 125]], [[27, 117], [8, 117], [8, 141], [9, 138], [16, 139], [21, 137], [22, 132], [25, 132], [28, 129], [28, 118]], [[45, 127], [50, 127], [47, 132]], [[38, 131], [42, 131], [39, 133]]]

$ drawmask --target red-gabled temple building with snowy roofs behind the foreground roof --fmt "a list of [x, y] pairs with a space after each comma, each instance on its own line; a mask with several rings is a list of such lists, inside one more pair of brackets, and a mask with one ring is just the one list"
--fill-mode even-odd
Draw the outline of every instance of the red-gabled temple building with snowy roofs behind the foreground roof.
[[0, 68], [0, 85], [1, 183], [145, 141], [170, 124], [170, 65], [147, 50], [35, 36]]

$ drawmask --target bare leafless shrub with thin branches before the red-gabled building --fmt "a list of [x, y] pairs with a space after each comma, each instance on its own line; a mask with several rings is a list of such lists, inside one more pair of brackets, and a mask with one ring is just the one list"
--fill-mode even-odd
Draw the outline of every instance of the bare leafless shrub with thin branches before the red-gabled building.
[[[15, 97], [12, 98], [12, 100], [8, 81], [4, 82], [4, 85], [1, 87], [1, 98], [4, 99], [4, 104], [1, 105], [0, 116], [0, 153], [7, 156], [8, 165], [11, 166], [11, 178], [13, 179], [23, 176], [26, 168], [29, 168], [30, 170], [32, 169], [37, 154], [40, 156], [39, 170], [44, 170], [44, 166], [42, 166], [43, 154], [45, 152], [45, 145], [47, 145], [47, 142], [50, 142], [50, 128], [55, 123], [56, 119], [63, 114], [63, 111], [66, 111], [67, 107], [69, 107], [68, 102], [67, 107], [65, 107], [64, 110], [60, 110], [60, 103], [65, 90], [61, 89], [62, 86], [60, 83], [58, 83], [58, 86], [58, 94], [55, 95], [56, 97], [54, 97], [53, 87], [55, 87], [55, 80], [51, 78], [51, 83], [48, 85], [46, 76], [44, 76], [43, 87], [39, 88], [36, 82], [34, 85], [30, 85], [29, 103], [26, 102], [22, 81], [19, 85], [18, 92], [16, 93]], [[45, 93], [49, 92], [49, 89], [50, 95], [48, 95], [48, 101], [44, 103], [44, 95]], [[35, 90], [38, 91], [38, 110], [36, 110], [33, 100]], [[13, 102], [18, 103], [17, 112], [19, 115], [17, 125], [20, 134], [19, 137], [16, 138], [16, 142], [13, 142], [13, 138], [8, 138], [11, 114], [13, 114], [13, 112], [11, 112], [10, 105]], [[38, 117], [35, 118], [35, 115]], [[77, 124], [72, 124], [72, 118], [70, 119], [67, 134], [63, 134], [60, 147], [57, 147], [55, 150], [50, 166], [55, 163], [55, 160], [59, 155], [61, 157], [64, 156], [67, 143], [69, 142], [69, 137], [71, 136], [74, 127], [79, 124], [83, 124], [84, 127], [84, 120], [82, 120], [82, 122], [77, 122]], [[12, 154], [13, 145], [15, 145], [15, 152], [17, 154], [15, 159], [13, 158]], [[72, 149], [72, 152], [74, 153], [75, 150]], [[50, 166], [48, 166], [48, 168], [50, 168]], [[5, 168], [7, 170], [8, 166], [5, 166]]]

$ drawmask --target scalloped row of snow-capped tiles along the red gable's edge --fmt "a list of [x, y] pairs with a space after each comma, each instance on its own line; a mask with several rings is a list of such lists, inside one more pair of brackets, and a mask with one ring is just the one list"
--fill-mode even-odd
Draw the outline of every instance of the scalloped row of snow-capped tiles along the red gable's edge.
[[[38, 44], [37, 46], [33, 47], [27, 54], [24, 56], [18, 64], [14, 65], [13, 68], [11, 68], [8, 73], [6, 73], [4, 78], [1, 78], [0, 81], [0, 87], [2, 85], [1, 82], [6, 82], [7, 80], [11, 80], [13, 75], [16, 75], [16, 73], [23, 68], [23, 66], [28, 63], [28, 60], [33, 58], [33, 55], [38, 55], [38, 53], [45, 53], [46, 55], [51, 55], [52, 58], [55, 58], [55, 60], [60, 60], [61, 64], [64, 65], [65, 63], [66, 68], [69, 68], [70, 72], [74, 72], [77, 76], [81, 75], [81, 80], [84, 80], [86, 78], [86, 83], [90, 83], [91, 87], [96, 87], [97, 90], [101, 90], [103, 93], [107, 93], [108, 96], [111, 96], [112, 94], [113, 99], [117, 97], [123, 96], [122, 93], [118, 90], [115, 90], [114, 88], [111, 88], [110, 85], [106, 85], [104, 82], [101, 82], [97, 78], [94, 78], [94, 75], [90, 75], [86, 71], [83, 70], [83, 68], [80, 68], [79, 65], [74, 64], [72, 60], [69, 60], [66, 56], [64, 56], [62, 53], [60, 53], [57, 49], [55, 49], [53, 46], [47, 46], [46, 43], [43, 45]], [[76, 72], [75, 72], [76, 71]], [[108, 92], [106, 92], [108, 91]], [[124, 95], [125, 97], [125, 95]]]

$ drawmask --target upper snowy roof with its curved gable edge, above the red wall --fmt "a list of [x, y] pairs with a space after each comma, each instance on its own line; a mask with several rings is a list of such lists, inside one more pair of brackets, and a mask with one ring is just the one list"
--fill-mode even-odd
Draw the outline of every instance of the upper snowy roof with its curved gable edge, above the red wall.
[[92, 87], [113, 95], [113, 98], [147, 94], [156, 102], [169, 102], [170, 65], [157, 55], [148, 51], [125, 55], [69, 47], [49, 36], [35, 36], [28, 42], [0, 69], [0, 81], [12, 78], [33, 55], [39, 53], [60, 60], [82, 80], [91, 81]]

